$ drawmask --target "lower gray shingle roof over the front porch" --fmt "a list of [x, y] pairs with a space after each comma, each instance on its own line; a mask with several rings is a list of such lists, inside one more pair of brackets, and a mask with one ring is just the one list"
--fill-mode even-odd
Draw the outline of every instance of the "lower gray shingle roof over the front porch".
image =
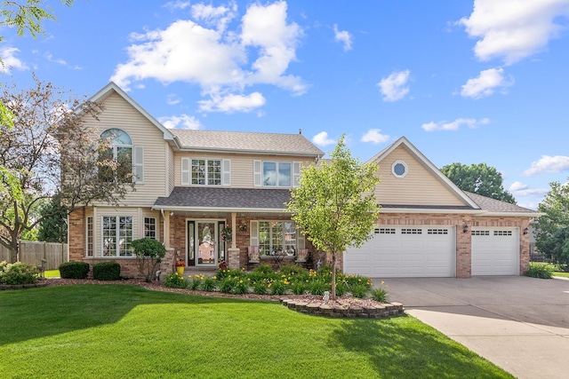
[[168, 197], [159, 197], [155, 207], [284, 209], [291, 200], [288, 189], [175, 187]]

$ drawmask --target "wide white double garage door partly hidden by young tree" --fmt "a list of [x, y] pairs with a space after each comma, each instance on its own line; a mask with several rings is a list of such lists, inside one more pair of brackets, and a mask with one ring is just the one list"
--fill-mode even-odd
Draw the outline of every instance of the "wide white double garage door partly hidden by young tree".
[[373, 238], [344, 253], [344, 272], [376, 278], [453, 277], [454, 227], [376, 228]]

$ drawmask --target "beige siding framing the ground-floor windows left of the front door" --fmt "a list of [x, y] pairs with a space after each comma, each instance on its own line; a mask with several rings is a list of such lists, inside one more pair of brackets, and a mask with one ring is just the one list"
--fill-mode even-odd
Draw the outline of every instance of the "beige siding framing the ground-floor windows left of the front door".
[[132, 217], [132, 240], [144, 238], [144, 217], [156, 218], [156, 238], [160, 240], [160, 211], [148, 208], [132, 208], [132, 207], [94, 207], [88, 212], [87, 217], [93, 217], [93, 251], [94, 257], [102, 255], [102, 217], [104, 216], [126, 216]]

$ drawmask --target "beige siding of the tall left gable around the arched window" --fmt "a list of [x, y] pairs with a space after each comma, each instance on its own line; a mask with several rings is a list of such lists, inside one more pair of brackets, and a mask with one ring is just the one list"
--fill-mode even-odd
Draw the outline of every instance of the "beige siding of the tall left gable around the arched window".
[[151, 206], [156, 197], [167, 192], [164, 152], [169, 146], [164, 141], [164, 133], [116, 93], [104, 99], [103, 106], [99, 122], [86, 117], [87, 126], [95, 127], [99, 134], [109, 128], [122, 129], [131, 136], [133, 146], [144, 147], [144, 184], [137, 184], [136, 191], [130, 191], [122, 203], [125, 206]]

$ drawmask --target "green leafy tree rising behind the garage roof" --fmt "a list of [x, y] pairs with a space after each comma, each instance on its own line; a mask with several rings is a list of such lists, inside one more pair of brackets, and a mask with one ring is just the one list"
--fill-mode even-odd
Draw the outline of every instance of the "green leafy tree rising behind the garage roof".
[[444, 166], [441, 172], [462, 191], [516, 204], [514, 196], [502, 186], [501, 173], [486, 163], [466, 165], [455, 162]]

